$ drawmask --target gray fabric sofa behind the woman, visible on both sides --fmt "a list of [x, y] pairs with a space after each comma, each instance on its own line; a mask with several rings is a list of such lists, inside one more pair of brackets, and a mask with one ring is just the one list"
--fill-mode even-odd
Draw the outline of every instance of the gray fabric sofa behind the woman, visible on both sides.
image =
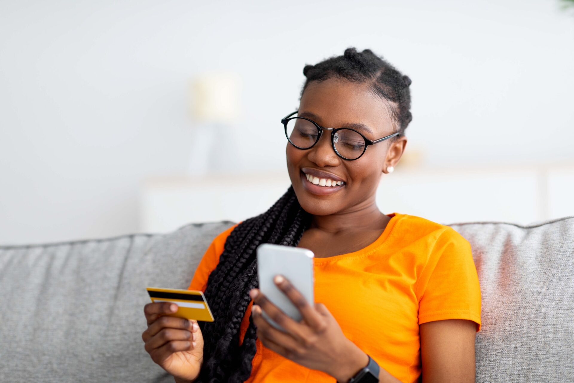
[[[173, 382], [144, 350], [145, 287], [187, 288], [231, 225], [0, 246], [0, 381]], [[482, 291], [476, 381], [574, 381], [574, 216], [449, 226]]]

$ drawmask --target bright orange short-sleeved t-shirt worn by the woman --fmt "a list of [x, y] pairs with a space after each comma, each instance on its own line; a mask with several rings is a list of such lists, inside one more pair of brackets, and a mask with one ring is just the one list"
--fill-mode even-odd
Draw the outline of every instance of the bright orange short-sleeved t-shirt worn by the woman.
[[[422, 372], [418, 325], [469, 319], [480, 331], [480, 285], [471, 245], [452, 227], [394, 212], [381, 236], [353, 253], [313, 259], [315, 301], [327, 306], [344, 334], [401, 382]], [[235, 225], [236, 226], [236, 225]], [[197, 266], [189, 289], [205, 291], [227, 236], [219, 234]], [[253, 300], [241, 323], [249, 325]], [[335, 382], [267, 349], [259, 339], [246, 382]]]

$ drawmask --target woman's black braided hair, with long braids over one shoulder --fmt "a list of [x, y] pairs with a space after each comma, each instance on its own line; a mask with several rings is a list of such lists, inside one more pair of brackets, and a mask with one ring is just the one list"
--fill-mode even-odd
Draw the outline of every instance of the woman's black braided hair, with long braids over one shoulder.
[[[370, 49], [358, 53], [355, 48], [347, 48], [343, 56], [306, 65], [303, 74], [307, 80], [301, 96], [309, 83], [336, 76], [355, 83], [368, 83], [375, 94], [391, 101], [392, 118], [401, 135], [412, 119], [410, 79]], [[251, 301], [249, 291], [259, 287], [255, 249], [261, 243], [297, 246], [311, 225], [311, 219], [311, 214], [301, 208], [293, 186], [290, 186], [269, 210], [246, 219], [231, 231], [204, 292], [215, 321], [199, 322], [204, 359], [197, 382], [243, 382], [250, 377], [256, 351], [256, 331], [251, 317], [241, 346], [239, 332]]]

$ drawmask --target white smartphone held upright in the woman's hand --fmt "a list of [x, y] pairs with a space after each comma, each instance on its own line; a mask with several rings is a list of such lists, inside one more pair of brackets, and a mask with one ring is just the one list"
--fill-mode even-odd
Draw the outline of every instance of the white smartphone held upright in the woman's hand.
[[[301, 247], [272, 245], [270, 243], [263, 243], [257, 247], [259, 290], [296, 322], [303, 319], [301, 313], [289, 297], [277, 287], [273, 278], [277, 274], [281, 274], [293, 284], [293, 287], [307, 299], [309, 304], [314, 305], [313, 257], [315, 254], [311, 250]], [[284, 328], [269, 318], [265, 311], [261, 310], [261, 314], [272, 326], [285, 331]]]

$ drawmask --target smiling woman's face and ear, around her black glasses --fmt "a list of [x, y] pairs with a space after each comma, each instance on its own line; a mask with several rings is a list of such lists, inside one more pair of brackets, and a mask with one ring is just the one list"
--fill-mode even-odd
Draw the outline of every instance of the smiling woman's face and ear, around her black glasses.
[[[362, 123], [367, 128], [355, 127], [355, 130], [370, 140], [394, 132], [387, 102], [367, 90], [365, 84], [336, 78], [312, 82], [302, 95], [298, 111], [298, 116], [325, 127]], [[337, 156], [331, 146], [329, 130], [323, 131], [319, 142], [311, 149], [297, 149], [288, 142], [287, 168], [301, 207], [313, 215], [330, 215], [371, 206], [383, 170], [398, 162], [406, 145], [406, 138], [400, 137], [389, 150], [390, 140], [367, 146], [363, 156], [354, 161]], [[306, 174], [343, 181], [343, 184], [335, 187], [315, 185]]]

